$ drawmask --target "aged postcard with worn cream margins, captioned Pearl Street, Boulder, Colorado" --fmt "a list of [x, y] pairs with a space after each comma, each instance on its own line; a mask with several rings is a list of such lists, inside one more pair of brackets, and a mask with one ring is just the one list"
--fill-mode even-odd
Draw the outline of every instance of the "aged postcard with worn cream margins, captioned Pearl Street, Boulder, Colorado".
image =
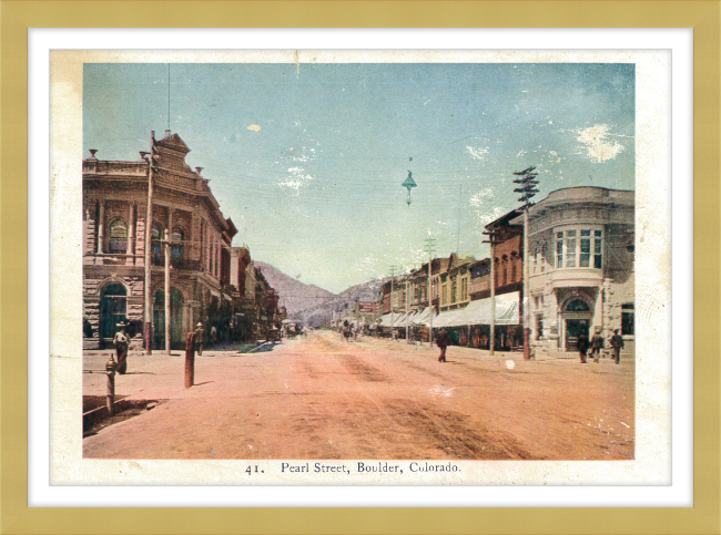
[[670, 481], [670, 54], [53, 54], [54, 484]]

